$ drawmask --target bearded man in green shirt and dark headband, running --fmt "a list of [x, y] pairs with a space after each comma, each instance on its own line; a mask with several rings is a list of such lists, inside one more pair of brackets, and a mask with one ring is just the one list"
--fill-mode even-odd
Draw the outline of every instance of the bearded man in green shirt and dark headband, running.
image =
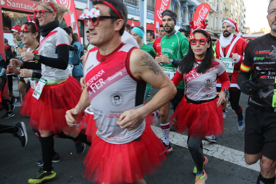
[[[167, 35], [161, 39], [161, 55], [157, 55], [155, 60], [162, 63], [162, 68], [166, 75], [172, 79], [176, 73], [178, 63], [188, 53], [189, 42], [182, 33], [175, 31], [177, 14], [171, 10], [165, 10], [162, 13], [163, 27]], [[182, 81], [176, 87], [177, 94], [171, 100], [174, 104], [174, 110], [178, 103], [182, 100], [185, 93], [185, 82]], [[172, 151], [171, 143], [169, 140], [170, 123], [169, 123], [170, 102], [160, 109], [160, 121], [163, 132], [163, 144], [167, 147], [168, 151]]]

